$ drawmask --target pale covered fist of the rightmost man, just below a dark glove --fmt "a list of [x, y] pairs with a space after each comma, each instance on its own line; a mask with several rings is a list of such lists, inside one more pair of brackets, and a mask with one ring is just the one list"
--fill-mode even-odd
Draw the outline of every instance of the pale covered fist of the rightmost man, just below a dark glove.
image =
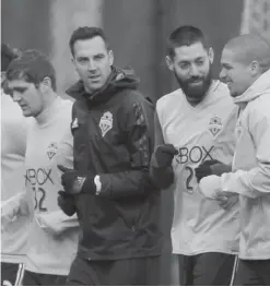
[[212, 200], [224, 196], [221, 190], [221, 178], [214, 175], [202, 178], [199, 182], [199, 192]]

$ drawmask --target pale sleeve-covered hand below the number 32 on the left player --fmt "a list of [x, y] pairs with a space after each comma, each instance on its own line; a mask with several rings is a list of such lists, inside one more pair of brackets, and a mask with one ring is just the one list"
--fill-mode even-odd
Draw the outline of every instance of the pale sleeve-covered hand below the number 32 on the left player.
[[55, 236], [59, 236], [70, 228], [79, 227], [77, 215], [69, 217], [62, 211], [37, 214], [35, 217], [37, 224]]

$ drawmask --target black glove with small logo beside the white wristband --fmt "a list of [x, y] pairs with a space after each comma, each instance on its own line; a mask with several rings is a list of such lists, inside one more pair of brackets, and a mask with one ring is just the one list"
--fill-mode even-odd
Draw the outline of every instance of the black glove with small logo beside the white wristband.
[[58, 166], [58, 168], [63, 172], [61, 184], [68, 194], [96, 193], [95, 176], [91, 171], [82, 172], [63, 166]]

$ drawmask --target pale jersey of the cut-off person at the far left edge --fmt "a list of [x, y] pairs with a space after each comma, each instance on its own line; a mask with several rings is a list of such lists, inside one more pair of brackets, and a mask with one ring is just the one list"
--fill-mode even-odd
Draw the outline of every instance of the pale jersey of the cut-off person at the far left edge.
[[[1, 91], [1, 203], [22, 192], [27, 119]], [[22, 263], [25, 258], [27, 216], [20, 215], [1, 231], [1, 261]]]

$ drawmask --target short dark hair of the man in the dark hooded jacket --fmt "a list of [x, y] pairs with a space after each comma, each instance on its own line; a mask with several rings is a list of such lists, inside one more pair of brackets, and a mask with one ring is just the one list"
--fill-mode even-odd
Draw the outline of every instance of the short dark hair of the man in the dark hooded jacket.
[[105, 36], [104, 31], [102, 28], [99, 28], [99, 27], [87, 27], [87, 26], [77, 28], [72, 33], [70, 40], [69, 40], [69, 47], [70, 47], [70, 51], [71, 51], [72, 56], [74, 56], [74, 44], [77, 40], [92, 39], [92, 38], [97, 37], [97, 36], [103, 38], [107, 49], [109, 49], [107, 37]]

